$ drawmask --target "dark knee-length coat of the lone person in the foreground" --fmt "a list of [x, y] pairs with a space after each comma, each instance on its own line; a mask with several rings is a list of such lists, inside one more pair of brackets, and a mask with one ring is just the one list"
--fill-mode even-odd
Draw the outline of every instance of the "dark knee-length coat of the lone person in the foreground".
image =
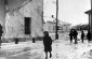
[[52, 51], [52, 39], [51, 36], [43, 36], [44, 51]]

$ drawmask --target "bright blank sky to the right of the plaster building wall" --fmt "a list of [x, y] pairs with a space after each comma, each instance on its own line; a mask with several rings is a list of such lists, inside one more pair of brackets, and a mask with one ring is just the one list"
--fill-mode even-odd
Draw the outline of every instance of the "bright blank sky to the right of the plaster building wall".
[[[44, 0], [44, 21], [53, 20], [56, 16], [56, 0]], [[84, 13], [91, 9], [90, 0], [58, 0], [58, 19], [73, 26], [88, 24], [89, 16]]]

